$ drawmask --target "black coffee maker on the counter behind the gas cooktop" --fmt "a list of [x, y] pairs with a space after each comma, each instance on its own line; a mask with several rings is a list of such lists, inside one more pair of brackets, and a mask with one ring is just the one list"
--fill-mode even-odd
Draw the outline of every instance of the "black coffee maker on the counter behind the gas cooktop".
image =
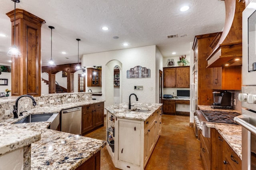
[[213, 106], [231, 106], [231, 96], [230, 92], [212, 92], [213, 94]]

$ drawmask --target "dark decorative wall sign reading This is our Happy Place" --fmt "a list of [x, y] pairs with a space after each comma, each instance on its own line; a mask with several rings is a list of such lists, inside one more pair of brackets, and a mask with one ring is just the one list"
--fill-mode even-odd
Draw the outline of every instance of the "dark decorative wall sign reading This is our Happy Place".
[[127, 78], [149, 78], [150, 69], [142, 66], [135, 66], [126, 71]]

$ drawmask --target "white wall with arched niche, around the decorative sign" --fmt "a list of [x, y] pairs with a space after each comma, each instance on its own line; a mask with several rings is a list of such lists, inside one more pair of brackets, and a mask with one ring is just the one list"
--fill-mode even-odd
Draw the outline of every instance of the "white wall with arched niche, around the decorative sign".
[[[122, 69], [120, 70], [120, 76], [122, 76], [122, 78], [120, 78], [122, 79], [120, 88], [123, 89], [121, 93], [122, 102], [128, 102], [129, 95], [135, 93], [139, 98], [138, 102], [156, 103], [159, 102], [158, 97], [156, 97], [156, 82], [158, 82], [158, 80], [156, 80], [156, 72], [159, 72], [162, 63], [160, 62], [162, 55], [159, 53], [160, 52], [158, 51], [158, 62], [156, 62], [155, 45], [83, 55], [81, 62], [83, 66], [102, 65], [102, 96], [104, 96], [104, 99], [106, 100], [105, 106], [114, 104], [112, 76], [114, 72], [113, 70], [109, 70], [110, 68], [107, 68], [106, 66], [106, 64], [112, 60], [119, 61], [122, 64], [122, 68], [120, 68]], [[157, 70], [156, 63], [158, 65]], [[114, 69], [114, 66], [111, 68]], [[149, 68], [151, 72], [150, 78], [126, 78], [126, 71], [134, 66]], [[112, 74], [110, 75], [111, 72]], [[110, 91], [110, 89], [108, 89], [108, 84], [109, 87], [111, 86], [113, 89], [113, 96], [111, 97], [106, 96], [106, 90], [108, 90], [108, 92]], [[134, 86], [143, 86], [143, 90], [134, 90]], [[153, 90], [150, 90], [151, 87]], [[112, 101], [112, 103], [108, 103], [107, 101]], [[131, 101], [136, 102], [134, 96], [132, 96]]]

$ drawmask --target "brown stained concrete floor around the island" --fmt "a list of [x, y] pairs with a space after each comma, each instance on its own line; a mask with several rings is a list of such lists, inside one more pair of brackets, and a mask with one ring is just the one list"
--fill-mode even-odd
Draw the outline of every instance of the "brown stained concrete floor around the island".
[[[85, 135], [106, 140], [106, 117], [104, 127]], [[101, 170], [115, 168], [106, 147], [100, 152]], [[150, 156], [145, 170], [204, 170], [200, 157], [200, 141], [196, 139], [189, 117], [178, 115], [162, 116], [162, 135]]]

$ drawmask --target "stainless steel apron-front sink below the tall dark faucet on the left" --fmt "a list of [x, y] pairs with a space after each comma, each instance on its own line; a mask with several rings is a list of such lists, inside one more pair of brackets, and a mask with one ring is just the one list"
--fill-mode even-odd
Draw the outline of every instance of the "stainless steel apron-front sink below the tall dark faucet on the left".
[[41, 121], [50, 121], [50, 127], [49, 129], [57, 129], [59, 123], [60, 123], [60, 115], [59, 113], [42, 113], [42, 114], [32, 114], [27, 115], [23, 119], [15, 122], [17, 123], [32, 123], [32, 122], [41, 122]]

